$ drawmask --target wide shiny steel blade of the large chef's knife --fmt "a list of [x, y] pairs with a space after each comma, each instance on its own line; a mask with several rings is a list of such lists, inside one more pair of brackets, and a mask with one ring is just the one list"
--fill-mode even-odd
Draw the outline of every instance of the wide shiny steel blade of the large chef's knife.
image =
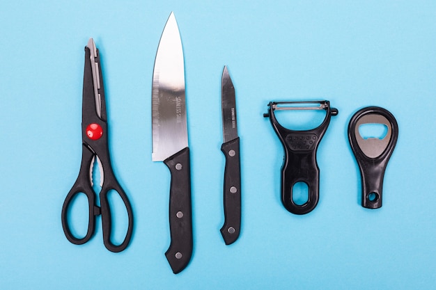
[[163, 161], [188, 146], [183, 49], [173, 13], [157, 48], [151, 115], [153, 161]]

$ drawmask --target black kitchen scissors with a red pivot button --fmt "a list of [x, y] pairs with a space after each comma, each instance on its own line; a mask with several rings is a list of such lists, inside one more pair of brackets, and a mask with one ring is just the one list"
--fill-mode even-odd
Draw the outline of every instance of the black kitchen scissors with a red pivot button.
[[[79, 177], [68, 193], [62, 207], [62, 227], [68, 241], [76, 245], [86, 243], [95, 232], [95, 216], [102, 216], [104, 246], [111, 252], [125, 250], [130, 243], [133, 229], [132, 207], [127, 195], [115, 178], [109, 157], [107, 138], [107, 114], [106, 100], [104, 99], [104, 87], [100, 54], [91, 38], [85, 47], [84, 88], [82, 101], [82, 157]], [[100, 166], [101, 191], [100, 207], [96, 204], [96, 193], [93, 190], [92, 168], [95, 161]], [[107, 195], [110, 191], [116, 191], [123, 200], [129, 218], [125, 239], [119, 245], [111, 241], [111, 209]], [[88, 230], [86, 236], [77, 238], [72, 234], [68, 223], [68, 208], [71, 201], [79, 193], [84, 193], [88, 198]]]

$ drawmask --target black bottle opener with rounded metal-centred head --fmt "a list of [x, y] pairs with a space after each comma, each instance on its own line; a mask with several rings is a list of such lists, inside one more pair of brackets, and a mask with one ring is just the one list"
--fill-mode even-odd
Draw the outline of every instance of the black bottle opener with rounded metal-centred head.
[[[384, 124], [384, 138], [362, 138], [361, 124]], [[398, 124], [389, 111], [377, 106], [362, 108], [352, 116], [348, 125], [348, 138], [361, 175], [361, 205], [367, 209], [382, 207], [384, 170], [398, 139]]]

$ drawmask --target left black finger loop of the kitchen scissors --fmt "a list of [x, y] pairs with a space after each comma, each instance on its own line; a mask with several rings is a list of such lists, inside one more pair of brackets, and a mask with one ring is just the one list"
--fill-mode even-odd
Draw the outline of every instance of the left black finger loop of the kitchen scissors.
[[[77, 182], [79, 182], [79, 179], [77, 180]], [[63, 202], [61, 220], [63, 232], [65, 233], [68, 241], [74, 243], [75, 245], [82, 245], [89, 241], [89, 239], [91, 239], [91, 237], [93, 236], [95, 232], [95, 216], [98, 216], [100, 214], [100, 209], [95, 206], [95, 193], [92, 191], [92, 189], [77, 186], [76, 184], [71, 188], [70, 192], [65, 198], [65, 201]], [[77, 238], [77, 236], [72, 234], [70, 230], [70, 224], [68, 223], [68, 209], [72, 200], [74, 200], [76, 195], [78, 195], [79, 193], [84, 193], [86, 195], [86, 198], [88, 198], [88, 230], [83, 238]]]

